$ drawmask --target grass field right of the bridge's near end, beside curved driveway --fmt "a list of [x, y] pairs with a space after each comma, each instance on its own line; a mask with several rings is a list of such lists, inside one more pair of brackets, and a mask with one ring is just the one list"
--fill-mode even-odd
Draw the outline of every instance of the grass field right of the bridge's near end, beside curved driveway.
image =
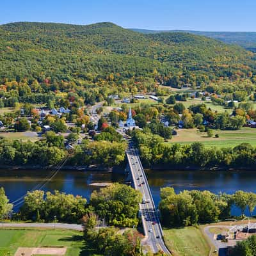
[[196, 227], [164, 229], [164, 241], [174, 256], [208, 256], [210, 247]]

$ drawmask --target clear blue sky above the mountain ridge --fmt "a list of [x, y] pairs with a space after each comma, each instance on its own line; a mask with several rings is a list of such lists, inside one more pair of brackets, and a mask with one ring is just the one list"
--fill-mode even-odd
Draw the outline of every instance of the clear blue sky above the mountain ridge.
[[124, 28], [256, 31], [255, 0], [1, 0], [0, 24], [15, 21]]

